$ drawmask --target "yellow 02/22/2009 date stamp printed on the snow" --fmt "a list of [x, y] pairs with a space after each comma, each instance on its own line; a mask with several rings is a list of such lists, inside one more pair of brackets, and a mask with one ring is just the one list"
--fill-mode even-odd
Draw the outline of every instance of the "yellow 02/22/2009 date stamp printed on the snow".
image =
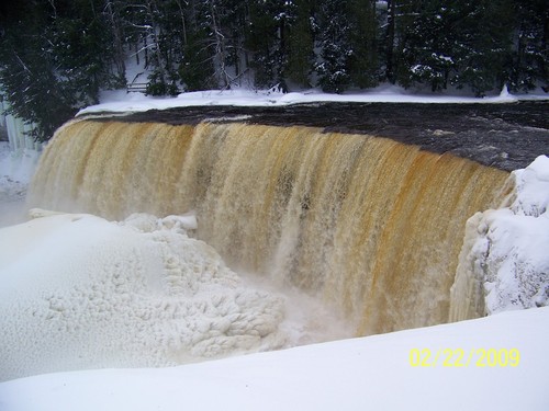
[[517, 367], [517, 349], [412, 349], [412, 367]]

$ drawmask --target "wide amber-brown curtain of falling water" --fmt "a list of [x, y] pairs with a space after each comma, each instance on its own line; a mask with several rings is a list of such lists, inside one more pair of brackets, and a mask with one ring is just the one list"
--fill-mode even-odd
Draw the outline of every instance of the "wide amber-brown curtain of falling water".
[[87, 119], [58, 130], [29, 203], [112, 219], [194, 210], [197, 237], [232, 267], [318, 296], [371, 334], [448, 320], [466, 221], [497, 205], [507, 176], [315, 127]]

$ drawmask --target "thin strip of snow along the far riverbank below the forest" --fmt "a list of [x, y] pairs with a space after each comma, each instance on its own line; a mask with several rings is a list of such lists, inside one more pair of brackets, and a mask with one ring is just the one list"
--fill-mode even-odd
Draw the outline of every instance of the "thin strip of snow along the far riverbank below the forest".
[[547, 94], [513, 95], [503, 89], [500, 95], [484, 99], [446, 95], [417, 94], [397, 85], [380, 85], [362, 92], [329, 94], [318, 90], [283, 93], [278, 88], [270, 90], [208, 90], [181, 93], [176, 98], [154, 98], [142, 93], [125, 91], [103, 92], [101, 104], [81, 110], [78, 115], [91, 115], [101, 112], [128, 113], [146, 110], [198, 105], [236, 105], [236, 106], [280, 106], [291, 104], [312, 104], [320, 102], [360, 102], [360, 103], [513, 103], [519, 100], [547, 100]]

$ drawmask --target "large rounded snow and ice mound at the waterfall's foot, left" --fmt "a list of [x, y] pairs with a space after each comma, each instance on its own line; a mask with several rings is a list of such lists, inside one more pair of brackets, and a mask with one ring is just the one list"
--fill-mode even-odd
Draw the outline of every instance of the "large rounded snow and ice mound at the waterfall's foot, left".
[[244, 287], [193, 216], [34, 209], [0, 229], [0, 380], [278, 349], [284, 300]]

